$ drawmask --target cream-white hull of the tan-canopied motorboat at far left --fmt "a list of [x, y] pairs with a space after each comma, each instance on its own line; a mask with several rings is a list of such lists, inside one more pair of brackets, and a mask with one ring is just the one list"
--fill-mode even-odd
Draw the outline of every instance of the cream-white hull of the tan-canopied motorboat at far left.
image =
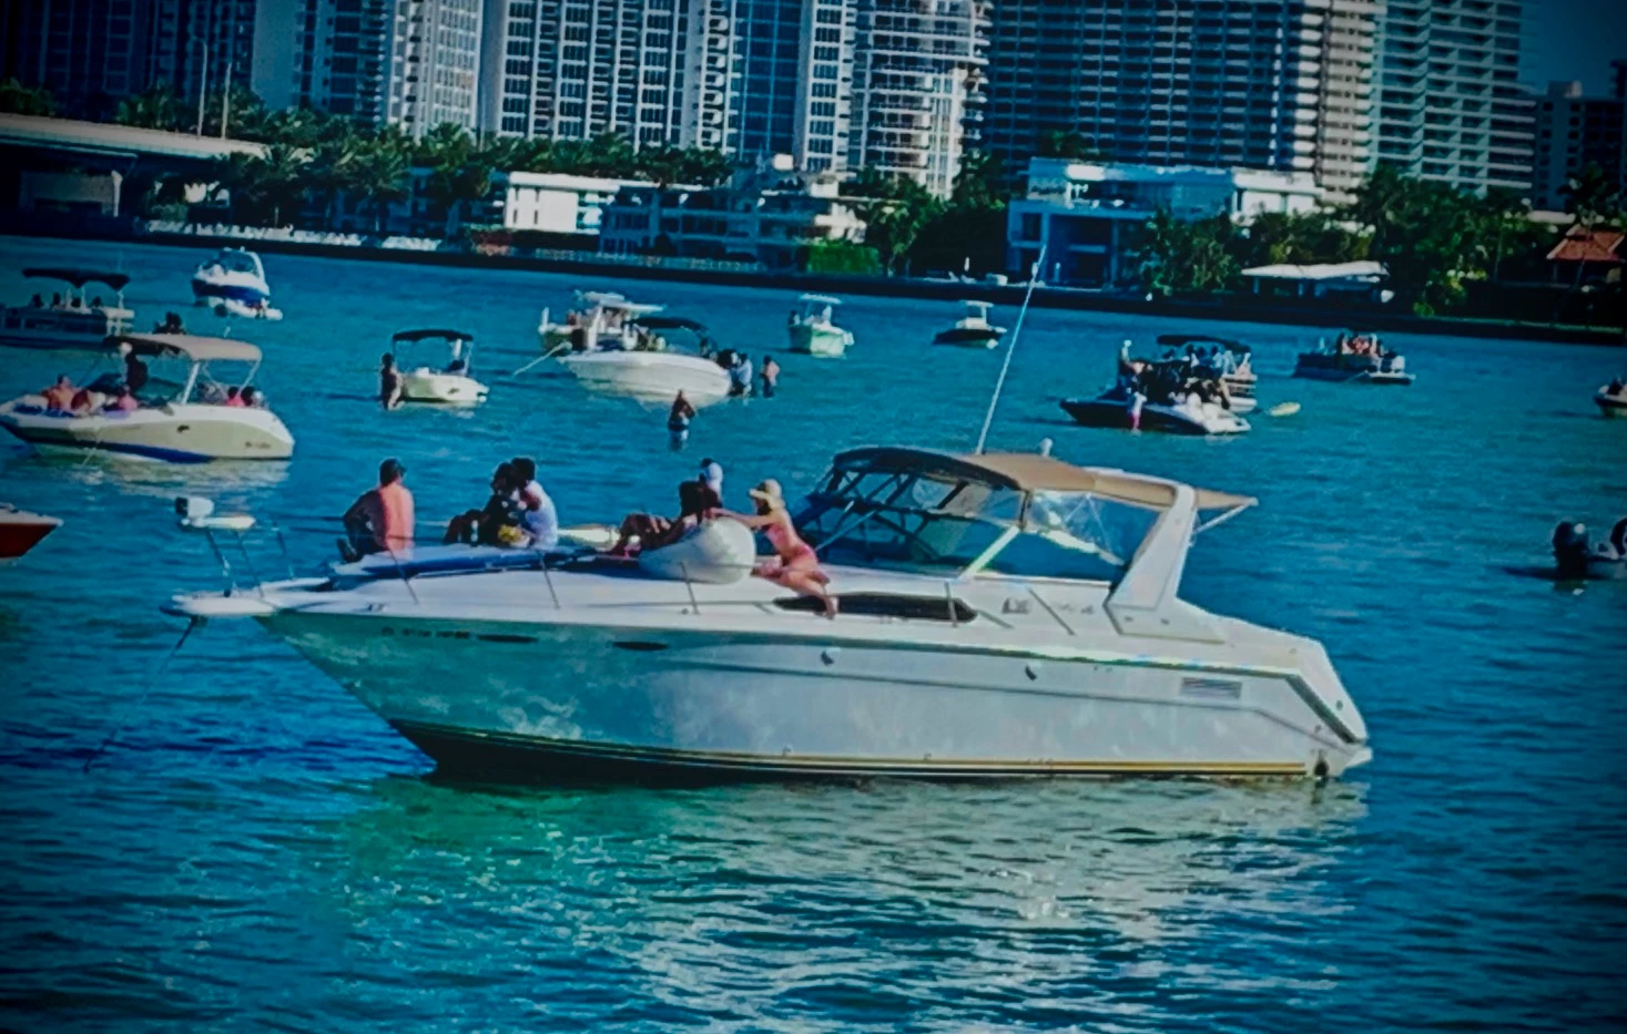
[[0, 405], [0, 428], [49, 452], [104, 452], [135, 460], [286, 460], [294, 439], [270, 410], [166, 405], [132, 413], [47, 413], [37, 397]]

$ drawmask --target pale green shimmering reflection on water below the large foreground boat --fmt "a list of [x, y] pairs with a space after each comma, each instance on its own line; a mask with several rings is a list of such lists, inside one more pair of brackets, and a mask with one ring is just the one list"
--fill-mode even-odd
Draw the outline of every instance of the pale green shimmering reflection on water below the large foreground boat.
[[[421, 933], [402, 901], [438, 902], [488, 917], [488, 948], [526, 943], [560, 964], [608, 951], [685, 993], [731, 1000], [729, 972], [851, 967], [866, 943], [885, 982], [900, 923], [957, 946], [908, 948], [931, 954], [919, 979], [934, 993], [1009, 977], [1012, 958], [989, 953], [1014, 949], [1069, 980], [1124, 979], [1114, 949], [1152, 949], [1137, 962], [1197, 964], [1241, 985], [1258, 958], [1188, 951], [1217, 930], [1289, 936], [1349, 912], [1359, 891], [1336, 867], [1365, 793], [1360, 782], [888, 779], [560, 792], [387, 777], [330, 819], [335, 836], [309, 837], [324, 857], [296, 868], [329, 870], [338, 907], [379, 923], [381, 940]], [[1282, 977], [1324, 972], [1300, 966]]]

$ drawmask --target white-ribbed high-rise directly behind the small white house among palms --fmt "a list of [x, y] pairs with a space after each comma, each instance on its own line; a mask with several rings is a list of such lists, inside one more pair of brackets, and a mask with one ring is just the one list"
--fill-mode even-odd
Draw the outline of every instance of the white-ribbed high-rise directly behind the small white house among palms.
[[490, 0], [482, 125], [722, 148], [735, 0]]

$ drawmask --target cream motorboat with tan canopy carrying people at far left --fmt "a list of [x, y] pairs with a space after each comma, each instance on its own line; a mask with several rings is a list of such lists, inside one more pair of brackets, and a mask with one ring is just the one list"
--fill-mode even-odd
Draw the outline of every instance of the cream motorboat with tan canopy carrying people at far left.
[[[88, 385], [83, 408], [52, 406], [42, 393], [23, 395], [0, 405], [0, 428], [42, 452], [89, 450], [169, 463], [293, 455], [294, 439], [283, 421], [270, 410], [241, 403], [233, 392], [249, 387], [260, 366], [254, 345], [184, 333], [107, 338], [109, 356], [117, 358], [122, 348], [172, 366], [177, 376], [155, 371], [132, 410], [109, 405], [119, 389], [117, 374]], [[216, 380], [221, 363], [246, 364], [247, 371]]]

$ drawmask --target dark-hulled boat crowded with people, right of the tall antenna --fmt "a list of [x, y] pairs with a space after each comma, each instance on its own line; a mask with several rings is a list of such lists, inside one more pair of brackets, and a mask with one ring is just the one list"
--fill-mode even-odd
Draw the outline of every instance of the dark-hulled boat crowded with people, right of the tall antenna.
[[[1243, 434], [1250, 423], [1232, 410], [1232, 395], [1214, 356], [1188, 345], [1160, 359], [1118, 354], [1118, 377], [1095, 398], [1064, 398], [1062, 411], [1087, 428], [1168, 434]], [[1230, 354], [1222, 350], [1222, 354]], [[1253, 402], [1253, 400], [1251, 400]]]

